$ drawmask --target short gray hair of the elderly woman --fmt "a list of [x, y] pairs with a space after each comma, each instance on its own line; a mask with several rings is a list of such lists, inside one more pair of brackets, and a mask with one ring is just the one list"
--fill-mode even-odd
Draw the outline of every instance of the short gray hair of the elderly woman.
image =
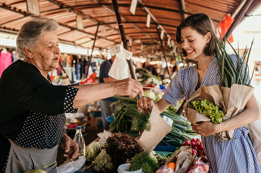
[[27, 60], [28, 57], [23, 51], [26, 47], [28, 50], [33, 50], [39, 37], [45, 32], [55, 31], [59, 27], [57, 21], [46, 17], [35, 17], [31, 21], [23, 24], [16, 38], [16, 52], [19, 59]]

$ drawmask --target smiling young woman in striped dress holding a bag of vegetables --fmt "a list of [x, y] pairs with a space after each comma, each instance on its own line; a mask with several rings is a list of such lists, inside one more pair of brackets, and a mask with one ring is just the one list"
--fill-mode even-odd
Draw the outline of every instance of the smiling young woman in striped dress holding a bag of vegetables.
[[[219, 67], [213, 51], [215, 28], [206, 14], [193, 14], [180, 23], [176, 32], [177, 43], [182, 46], [182, 56], [197, 59], [195, 66], [180, 69], [171, 80], [162, 99], [154, 103], [150, 97], [137, 101], [138, 109], [156, 108], [160, 114], [171, 104], [176, 106], [185, 97], [189, 99], [200, 86], [220, 86]], [[235, 55], [230, 57], [237, 63]], [[204, 121], [192, 125], [193, 130], [202, 135], [202, 143], [210, 167], [216, 172], [260, 172], [250, 139], [248, 123], [259, 119], [260, 112], [254, 94], [249, 98], [245, 110], [222, 123]], [[232, 140], [221, 141], [213, 134], [235, 129]]]

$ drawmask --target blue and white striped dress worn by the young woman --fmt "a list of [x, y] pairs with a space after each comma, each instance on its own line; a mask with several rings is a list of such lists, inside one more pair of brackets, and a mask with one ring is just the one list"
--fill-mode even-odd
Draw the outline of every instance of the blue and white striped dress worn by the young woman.
[[[230, 55], [237, 64], [237, 57]], [[180, 69], [171, 80], [163, 98], [176, 106], [185, 97], [188, 100], [198, 82], [197, 65]], [[214, 58], [207, 68], [200, 86], [220, 86], [219, 67]], [[252, 143], [244, 126], [235, 129], [234, 139], [221, 141], [218, 136], [202, 136], [202, 143], [213, 173], [260, 172]]]

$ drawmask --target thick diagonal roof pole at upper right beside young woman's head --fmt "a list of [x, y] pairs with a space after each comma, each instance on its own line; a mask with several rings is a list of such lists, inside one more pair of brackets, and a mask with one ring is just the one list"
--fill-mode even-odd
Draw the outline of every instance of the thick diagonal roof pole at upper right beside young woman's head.
[[[236, 28], [237, 24], [241, 21], [243, 16], [246, 14], [246, 12], [252, 2], [253, 2], [253, 0], [247, 0], [246, 3], [244, 4], [244, 6], [242, 7], [242, 9], [240, 9], [239, 13], [235, 17], [235, 20], [233, 21], [233, 23], [231, 24], [230, 28], [228, 29], [228, 31], [226, 33], [227, 39], [232, 34], [233, 30]], [[225, 41], [224, 38], [223, 38], [223, 41]]]

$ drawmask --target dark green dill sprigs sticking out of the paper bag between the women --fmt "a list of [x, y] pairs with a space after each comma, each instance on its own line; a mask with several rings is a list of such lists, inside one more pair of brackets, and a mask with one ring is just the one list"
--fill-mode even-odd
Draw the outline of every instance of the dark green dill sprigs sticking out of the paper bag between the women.
[[150, 131], [151, 130], [151, 122], [149, 120], [150, 112], [146, 113], [137, 113], [136, 116], [132, 120], [131, 131]]

